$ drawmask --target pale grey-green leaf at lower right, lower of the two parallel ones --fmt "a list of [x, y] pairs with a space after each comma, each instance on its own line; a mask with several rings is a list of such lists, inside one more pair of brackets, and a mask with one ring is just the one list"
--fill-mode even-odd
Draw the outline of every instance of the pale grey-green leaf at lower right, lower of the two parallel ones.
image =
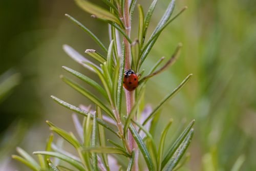
[[180, 159], [184, 155], [188, 145], [190, 144], [193, 135], [194, 135], [194, 130], [191, 129], [187, 134], [187, 136], [185, 137], [184, 141], [182, 141], [182, 143], [179, 145], [179, 147], [175, 151], [173, 157], [170, 158], [170, 160], [167, 162], [167, 164], [163, 168], [163, 171], [173, 170], [177, 166]]

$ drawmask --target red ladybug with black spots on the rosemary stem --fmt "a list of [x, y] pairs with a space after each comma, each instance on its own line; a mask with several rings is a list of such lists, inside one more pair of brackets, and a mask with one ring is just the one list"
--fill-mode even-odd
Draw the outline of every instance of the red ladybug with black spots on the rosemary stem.
[[123, 74], [123, 87], [128, 91], [134, 91], [138, 87], [138, 77], [132, 69]]

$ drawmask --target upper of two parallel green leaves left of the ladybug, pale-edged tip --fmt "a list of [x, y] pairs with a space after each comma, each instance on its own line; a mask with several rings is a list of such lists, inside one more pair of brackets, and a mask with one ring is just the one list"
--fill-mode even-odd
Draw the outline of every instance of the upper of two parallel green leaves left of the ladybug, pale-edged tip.
[[84, 82], [88, 83], [90, 86], [95, 88], [100, 94], [102, 94], [106, 99], [108, 99], [108, 95], [106, 94], [105, 90], [93, 79], [91, 79], [91, 78], [87, 77], [86, 75], [83, 75], [75, 70], [72, 70], [68, 67], [63, 66], [62, 68], [65, 69], [66, 71], [68, 71], [69, 73], [75, 75], [77, 78], [80, 78]]

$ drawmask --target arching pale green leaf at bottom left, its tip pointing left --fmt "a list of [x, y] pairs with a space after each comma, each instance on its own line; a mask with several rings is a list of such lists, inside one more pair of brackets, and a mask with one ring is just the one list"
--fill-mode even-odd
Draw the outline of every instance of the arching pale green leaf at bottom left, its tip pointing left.
[[56, 153], [56, 152], [46, 152], [46, 151], [38, 151], [38, 152], [34, 152], [33, 153], [34, 155], [48, 155], [48, 156], [52, 156], [52, 157], [56, 157], [56, 158], [59, 158], [60, 160], [63, 160], [63, 161], [66, 161], [68, 162], [69, 164], [73, 165], [75, 168], [77, 168], [78, 170], [80, 171], [83, 171], [84, 168], [83, 166], [81, 165], [80, 162], [68, 157], [68, 156], [65, 156], [65, 155], [62, 155], [62, 154], [59, 154], [59, 153]]

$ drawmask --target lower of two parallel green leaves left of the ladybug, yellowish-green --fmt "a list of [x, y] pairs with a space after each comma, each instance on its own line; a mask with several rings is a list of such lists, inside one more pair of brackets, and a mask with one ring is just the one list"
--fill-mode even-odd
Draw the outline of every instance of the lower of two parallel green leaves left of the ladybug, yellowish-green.
[[74, 88], [76, 91], [78, 91], [82, 95], [84, 95], [87, 98], [89, 98], [92, 102], [94, 102], [95, 104], [100, 106], [100, 108], [102, 110], [104, 110], [107, 114], [109, 114], [110, 116], [113, 116], [111, 110], [105, 104], [103, 104], [103, 102], [99, 98], [97, 98], [95, 95], [90, 93], [88, 90], [82, 88], [76, 82], [72, 81], [71, 79], [69, 79], [69, 78], [67, 78], [65, 76], [61, 76], [61, 79], [64, 82], [66, 82], [70, 87]]

